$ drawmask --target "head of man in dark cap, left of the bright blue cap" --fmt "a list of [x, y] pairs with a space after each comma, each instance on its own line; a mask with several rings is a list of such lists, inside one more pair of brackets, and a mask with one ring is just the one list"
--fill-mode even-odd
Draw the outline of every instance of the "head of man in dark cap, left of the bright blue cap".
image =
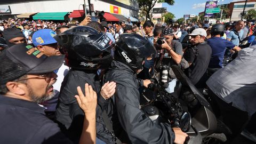
[[18, 28], [7, 28], [3, 31], [6, 44], [11, 47], [14, 44], [26, 43], [26, 38]]

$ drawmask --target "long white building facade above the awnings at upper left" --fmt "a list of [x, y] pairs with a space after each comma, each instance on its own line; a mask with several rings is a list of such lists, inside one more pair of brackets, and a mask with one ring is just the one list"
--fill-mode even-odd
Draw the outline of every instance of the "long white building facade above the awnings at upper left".
[[[67, 12], [69, 14], [74, 10], [84, 10], [84, 2], [89, 5], [88, 0], [1, 0], [0, 12], [6, 11], [7, 7], [9, 7], [9, 10], [0, 13], [0, 19], [15, 18], [15, 15], [24, 13]], [[105, 11], [138, 18], [139, 5], [137, 0], [91, 0], [91, 4], [94, 11]], [[89, 9], [89, 6], [87, 9]]]

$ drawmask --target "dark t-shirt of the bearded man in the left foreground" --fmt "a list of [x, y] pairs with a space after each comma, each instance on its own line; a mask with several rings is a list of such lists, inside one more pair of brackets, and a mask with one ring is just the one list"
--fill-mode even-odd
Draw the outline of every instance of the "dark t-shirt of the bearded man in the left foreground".
[[72, 143], [35, 102], [0, 95], [0, 143]]

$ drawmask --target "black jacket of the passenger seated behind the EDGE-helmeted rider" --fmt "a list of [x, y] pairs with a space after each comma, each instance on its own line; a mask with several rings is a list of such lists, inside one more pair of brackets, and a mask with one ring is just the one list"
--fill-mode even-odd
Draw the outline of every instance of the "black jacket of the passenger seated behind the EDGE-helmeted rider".
[[56, 109], [56, 119], [60, 123], [61, 130], [74, 142], [78, 142], [82, 133], [84, 112], [79, 107], [76, 98], [77, 86], [81, 86], [84, 93], [85, 83], [92, 86], [98, 93], [98, 106], [96, 114], [97, 137], [106, 143], [114, 143], [113, 136], [106, 128], [102, 118], [102, 110], [108, 105], [109, 100], [101, 97], [101, 84], [98, 81], [97, 71], [79, 71], [71, 69], [63, 79], [60, 97]]

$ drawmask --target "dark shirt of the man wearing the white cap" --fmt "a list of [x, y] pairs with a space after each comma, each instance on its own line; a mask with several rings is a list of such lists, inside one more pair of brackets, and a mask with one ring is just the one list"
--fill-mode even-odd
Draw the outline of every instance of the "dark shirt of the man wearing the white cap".
[[[212, 55], [212, 49], [211, 46], [207, 44], [207, 42], [203, 42], [201, 44], [196, 45], [198, 49], [197, 59], [195, 60], [195, 53], [194, 51], [189, 48], [185, 51], [183, 57], [189, 62], [192, 63], [189, 66], [189, 69], [191, 71], [190, 74], [190, 81], [193, 84], [197, 84], [197, 82], [201, 79], [201, 77], [205, 74], [206, 69], [209, 65], [211, 55]], [[194, 64], [193, 64], [194, 62]]]

